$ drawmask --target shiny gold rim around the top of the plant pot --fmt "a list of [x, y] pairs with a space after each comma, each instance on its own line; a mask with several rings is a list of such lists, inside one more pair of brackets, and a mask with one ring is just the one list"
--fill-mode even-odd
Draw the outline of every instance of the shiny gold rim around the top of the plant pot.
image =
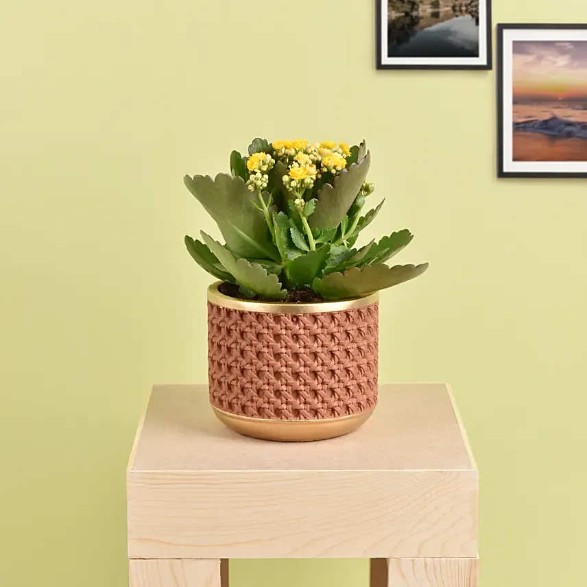
[[252, 300], [240, 300], [230, 298], [218, 291], [221, 281], [216, 281], [208, 287], [208, 302], [212, 302], [223, 308], [241, 310], [247, 312], [264, 312], [276, 314], [315, 314], [320, 312], [339, 312], [370, 306], [379, 301], [379, 291], [369, 293], [362, 298], [350, 298], [337, 302], [314, 302], [311, 304], [298, 304], [294, 302], [254, 302]]

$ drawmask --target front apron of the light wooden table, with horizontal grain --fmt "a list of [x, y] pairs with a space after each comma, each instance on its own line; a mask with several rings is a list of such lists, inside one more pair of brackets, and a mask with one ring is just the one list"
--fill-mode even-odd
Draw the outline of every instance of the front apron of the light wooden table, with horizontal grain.
[[476, 471], [130, 472], [130, 558], [477, 555]]

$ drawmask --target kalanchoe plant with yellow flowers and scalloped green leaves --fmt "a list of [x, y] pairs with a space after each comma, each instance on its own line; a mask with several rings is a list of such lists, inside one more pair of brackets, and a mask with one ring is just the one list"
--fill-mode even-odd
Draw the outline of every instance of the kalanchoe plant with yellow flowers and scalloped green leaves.
[[349, 148], [254, 139], [248, 156], [230, 155], [231, 175], [185, 176], [226, 241], [202, 232], [204, 242], [185, 237], [187, 250], [208, 273], [251, 299], [293, 299], [291, 292], [311, 289], [317, 299], [340, 300], [417, 277], [427, 263], [385, 265], [411, 241], [409, 230], [355, 247], [383, 205], [363, 214], [374, 190], [366, 181], [369, 165], [364, 141]]

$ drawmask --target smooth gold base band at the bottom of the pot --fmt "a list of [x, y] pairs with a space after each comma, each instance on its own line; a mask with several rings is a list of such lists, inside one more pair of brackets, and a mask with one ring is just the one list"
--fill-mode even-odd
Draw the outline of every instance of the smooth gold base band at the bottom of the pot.
[[212, 409], [217, 418], [235, 432], [252, 436], [252, 438], [277, 442], [309, 442], [343, 436], [357, 430], [373, 413], [372, 408], [352, 416], [323, 420], [263, 420], [229, 414], [228, 411], [214, 406]]

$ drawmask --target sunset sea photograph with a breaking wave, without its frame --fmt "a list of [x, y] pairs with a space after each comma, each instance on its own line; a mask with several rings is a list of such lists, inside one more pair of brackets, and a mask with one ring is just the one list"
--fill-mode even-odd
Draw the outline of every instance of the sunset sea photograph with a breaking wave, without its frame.
[[512, 158], [587, 161], [587, 40], [513, 43]]

